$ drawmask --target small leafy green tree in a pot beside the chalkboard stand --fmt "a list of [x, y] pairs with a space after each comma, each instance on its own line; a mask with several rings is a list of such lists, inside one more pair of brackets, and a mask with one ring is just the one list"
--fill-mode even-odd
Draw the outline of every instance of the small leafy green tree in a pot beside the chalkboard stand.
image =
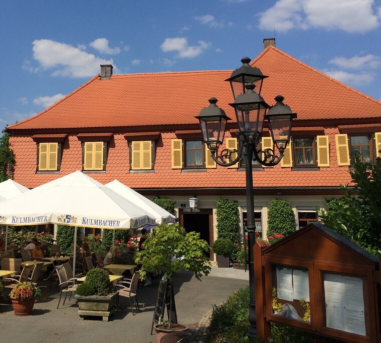
[[[182, 268], [193, 271], [198, 280], [202, 275], [208, 275], [211, 269], [207, 256], [208, 242], [200, 239], [197, 232], [185, 232], [179, 224], [161, 224], [154, 228], [152, 234], [143, 243], [144, 250], [135, 255], [135, 261], [140, 262], [140, 278], [144, 280], [147, 272], [164, 271], [163, 279], [172, 284], [172, 276]], [[168, 296], [173, 297], [173, 287], [169, 287]], [[174, 297], [173, 297], [174, 299]], [[169, 301], [168, 321], [159, 319], [154, 325], [156, 341], [159, 342], [163, 334], [174, 330], [186, 330], [181, 324], [172, 323], [172, 301]]]

